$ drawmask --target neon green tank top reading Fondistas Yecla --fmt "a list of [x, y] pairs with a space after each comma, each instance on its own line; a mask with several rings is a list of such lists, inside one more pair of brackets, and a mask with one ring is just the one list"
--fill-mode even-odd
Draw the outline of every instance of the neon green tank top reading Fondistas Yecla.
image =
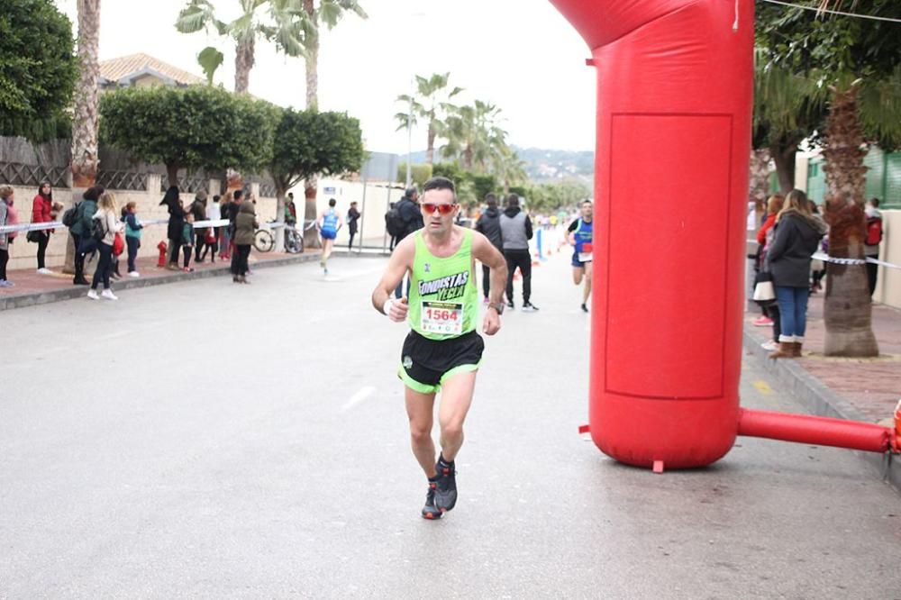
[[478, 290], [472, 270], [472, 230], [463, 230], [460, 250], [446, 259], [433, 256], [423, 230], [414, 233], [416, 254], [407, 320], [430, 340], [449, 340], [476, 329]]

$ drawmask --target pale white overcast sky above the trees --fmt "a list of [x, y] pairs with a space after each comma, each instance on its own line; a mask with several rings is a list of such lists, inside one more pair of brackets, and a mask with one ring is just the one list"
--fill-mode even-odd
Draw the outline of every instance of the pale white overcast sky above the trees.
[[[595, 73], [585, 66], [585, 42], [547, 0], [359, 0], [368, 20], [349, 15], [322, 37], [319, 104], [359, 118], [368, 150], [405, 153], [394, 114], [396, 96], [414, 74], [451, 72], [463, 100], [499, 106], [517, 146], [594, 150]], [[77, 31], [77, 0], [56, 0]], [[238, 0], [214, 0], [231, 20]], [[225, 54], [216, 83], [234, 87], [229, 39], [176, 32], [187, 0], [103, 0], [100, 58], [144, 52], [202, 76], [196, 54], [214, 45]], [[305, 105], [303, 59], [257, 45], [250, 93], [278, 105]], [[425, 132], [414, 131], [423, 150]]]

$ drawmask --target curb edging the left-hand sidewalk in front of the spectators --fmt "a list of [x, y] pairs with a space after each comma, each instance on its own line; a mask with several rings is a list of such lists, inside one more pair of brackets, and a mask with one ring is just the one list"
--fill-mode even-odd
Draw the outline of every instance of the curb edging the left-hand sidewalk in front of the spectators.
[[[286, 257], [284, 259], [257, 260], [253, 263], [253, 268], [269, 268], [284, 267], [286, 265], [296, 265], [311, 260], [318, 260], [319, 253], [303, 253], [296, 256]], [[123, 277], [116, 282], [116, 291], [123, 289], [134, 289], [136, 287], [162, 286], [164, 284], [178, 283], [181, 281], [191, 281], [193, 279], [205, 279], [207, 277], [221, 277], [231, 273], [230, 267], [205, 268], [193, 273], [171, 273], [160, 277], [134, 278]], [[86, 293], [87, 286], [68, 286], [59, 289], [44, 290], [42, 292], [32, 292], [21, 295], [8, 295], [0, 298], [0, 311], [11, 310], [14, 308], [23, 308], [24, 306], [46, 305], [51, 302], [60, 302], [62, 300], [73, 300], [83, 297]]]

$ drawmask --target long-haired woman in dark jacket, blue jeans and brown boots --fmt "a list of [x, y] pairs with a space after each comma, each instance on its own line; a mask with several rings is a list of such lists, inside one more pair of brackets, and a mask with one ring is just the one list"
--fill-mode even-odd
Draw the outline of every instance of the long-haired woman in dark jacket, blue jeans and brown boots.
[[781, 333], [778, 350], [771, 359], [801, 356], [810, 295], [810, 261], [826, 223], [810, 211], [807, 195], [793, 189], [776, 217], [773, 243], [767, 250], [768, 270], [773, 276], [779, 305]]

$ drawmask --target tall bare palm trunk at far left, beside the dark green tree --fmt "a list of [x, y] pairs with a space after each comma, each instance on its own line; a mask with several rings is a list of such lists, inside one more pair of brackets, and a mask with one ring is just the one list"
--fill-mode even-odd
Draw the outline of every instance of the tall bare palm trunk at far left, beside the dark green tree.
[[78, 0], [79, 77], [72, 115], [72, 186], [93, 186], [97, 177], [97, 81], [100, 0]]

